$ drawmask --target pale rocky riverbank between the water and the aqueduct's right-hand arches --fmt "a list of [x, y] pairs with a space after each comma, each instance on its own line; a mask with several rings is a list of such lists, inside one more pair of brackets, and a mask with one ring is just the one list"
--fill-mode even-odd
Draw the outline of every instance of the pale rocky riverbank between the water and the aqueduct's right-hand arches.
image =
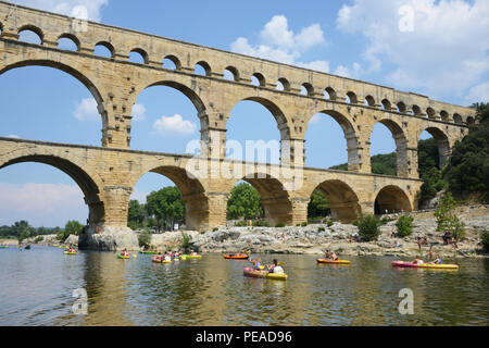
[[[217, 231], [199, 233], [185, 232], [190, 243], [201, 252], [238, 252], [251, 249], [253, 253], [306, 253], [322, 254], [331, 250], [340, 256], [397, 256], [426, 257], [429, 246], [441, 258], [489, 257], [484, 252], [480, 232], [489, 226], [489, 214], [461, 213], [465, 223], [465, 238], [453, 246], [444, 246], [442, 233], [437, 232], [432, 213], [424, 212], [415, 216], [414, 231], [409, 237], [396, 237], [397, 216], [380, 227], [381, 235], [375, 241], [356, 243], [358, 227], [335, 222], [333, 225], [311, 224], [303, 227], [220, 227]], [[419, 250], [416, 237], [427, 238], [428, 245]], [[152, 236], [152, 244], [160, 250], [178, 248], [183, 240], [181, 232], [171, 232]]]

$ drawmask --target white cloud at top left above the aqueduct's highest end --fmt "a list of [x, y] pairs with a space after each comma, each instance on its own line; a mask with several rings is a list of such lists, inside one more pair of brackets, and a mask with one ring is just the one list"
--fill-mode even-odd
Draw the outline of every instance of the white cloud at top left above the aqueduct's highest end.
[[74, 10], [76, 11], [77, 7], [85, 7], [87, 20], [95, 22], [100, 22], [101, 9], [109, 4], [109, 0], [12, 0], [11, 2], [70, 16], [75, 16]]

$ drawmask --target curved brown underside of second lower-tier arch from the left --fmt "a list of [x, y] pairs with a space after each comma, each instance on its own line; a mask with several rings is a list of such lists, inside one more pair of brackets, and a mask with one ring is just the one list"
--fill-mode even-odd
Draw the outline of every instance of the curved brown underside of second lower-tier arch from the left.
[[199, 229], [209, 225], [210, 204], [204, 186], [197, 177], [190, 177], [184, 167], [168, 164], [152, 164], [143, 170], [141, 175], [133, 181], [131, 186], [148, 172], [156, 173], [170, 178], [180, 190], [185, 201], [186, 227], [187, 229]]

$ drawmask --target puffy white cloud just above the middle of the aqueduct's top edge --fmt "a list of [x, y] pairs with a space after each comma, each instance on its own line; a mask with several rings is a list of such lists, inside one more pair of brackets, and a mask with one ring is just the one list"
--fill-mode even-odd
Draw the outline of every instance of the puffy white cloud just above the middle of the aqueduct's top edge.
[[275, 15], [260, 33], [258, 45], [251, 45], [247, 38], [239, 37], [231, 44], [231, 51], [327, 73], [329, 71], [327, 61], [302, 62], [300, 60], [305, 51], [325, 42], [319, 24], [304, 27], [296, 35], [289, 29], [287, 17]]

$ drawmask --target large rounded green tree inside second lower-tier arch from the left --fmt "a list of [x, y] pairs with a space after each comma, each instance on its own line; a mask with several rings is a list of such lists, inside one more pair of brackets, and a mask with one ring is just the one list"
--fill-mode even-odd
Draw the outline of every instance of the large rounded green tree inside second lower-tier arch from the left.
[[152, 191], [146, 198], [146, 210], [154, 216], [159, 227], [173, 228], [176, 222], [183, 222], [185, 216], [185, 202], [181, 194], [175, 186], [167, 186]]

